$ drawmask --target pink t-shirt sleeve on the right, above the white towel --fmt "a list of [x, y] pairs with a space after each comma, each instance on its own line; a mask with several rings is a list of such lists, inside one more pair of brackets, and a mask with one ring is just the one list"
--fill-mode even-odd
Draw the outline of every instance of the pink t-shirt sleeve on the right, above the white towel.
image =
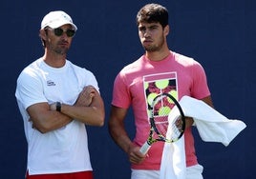
[[193, 84], [191, 88], [192, 97], [202, 99], [210, 95], [210, 90], [207, 85], [205, 71], [200, 63], [196, 62], [192, 68]]

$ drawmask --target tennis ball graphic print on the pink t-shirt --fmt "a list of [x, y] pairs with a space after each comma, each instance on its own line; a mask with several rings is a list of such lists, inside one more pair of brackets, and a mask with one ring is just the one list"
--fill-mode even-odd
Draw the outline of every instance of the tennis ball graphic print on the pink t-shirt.
[[[177, 74], [176, 72], [167, 72], [167, 73], [159, 73], [159, 74], [152, 74], [143, 76], [143, 85], [144, 85], [144, 93], [145, 93], [145, 100], [147, 102], [147, 115], [148, 115], [148, 122], [150, 118], [150, 108], [154, 98], [159, 95], [160, 93], [169, 93], [175, 99], [178, 100], [178, 83], [177, 83]], [[164, 102], [169, 103], [168, 106], [170, 109], [173, 108], [174, 103], [172, 101]], [[157, 106], [159, 109], [162, 107], [161, 104]], [[162, 121], [162, 117], [158, 117], [158, 113], [154, 113], [155, 123], [163, 124], [167, 123], [168, 121]], [[166, 118], [164, 118], [166, 120]]]

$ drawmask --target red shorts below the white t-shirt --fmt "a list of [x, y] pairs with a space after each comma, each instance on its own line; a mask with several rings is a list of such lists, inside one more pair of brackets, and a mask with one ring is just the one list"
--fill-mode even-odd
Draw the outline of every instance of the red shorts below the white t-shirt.
[[26, 173], [26, 179], [93, 179], [93, 171], [80, 171], [72, 173], [56, 173], [56, 174], [35, 174]]

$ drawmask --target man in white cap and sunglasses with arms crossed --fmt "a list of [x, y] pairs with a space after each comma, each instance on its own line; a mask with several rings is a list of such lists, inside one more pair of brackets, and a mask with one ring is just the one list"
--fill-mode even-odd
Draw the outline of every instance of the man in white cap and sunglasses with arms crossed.
[[93, 179], [85, 125], [103, 126], [105, 111], [95, 75], [66, 59], [76, 30], [64, 11], [48, 13], [39, 30], [45, 53], [17, 79], [27, 179]]

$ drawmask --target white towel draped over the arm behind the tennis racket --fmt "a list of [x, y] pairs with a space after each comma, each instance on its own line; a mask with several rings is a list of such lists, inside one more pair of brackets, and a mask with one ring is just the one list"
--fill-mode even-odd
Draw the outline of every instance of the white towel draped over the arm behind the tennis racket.
[[[223, 114], [212, 109], [201, 100], [183, 96], [180, 105], [185, 116], [194, 118], [203, 141], [221, 142], [224, 146], [227, 146], [246, 127], [244, 122], [227, 119]], [[169, 120], [177, 117], [177, 115], [179, 115], [178, 109], [173, 109], [169, 114]], [[185, 170], [183, 137], [175, 143], [165, 143], [160, 165], [160, 179], [185, 179]]]

